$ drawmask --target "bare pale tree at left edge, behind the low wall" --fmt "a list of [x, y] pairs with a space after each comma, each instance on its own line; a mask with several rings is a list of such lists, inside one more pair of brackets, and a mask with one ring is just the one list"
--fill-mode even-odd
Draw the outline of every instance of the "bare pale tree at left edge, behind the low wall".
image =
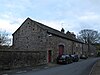
[[6, 33], [6, 31], [0, 31], [0, 46], [2, 45], [9, 45], [11, 42], [11, 39], [9, 38], [9, 35]]

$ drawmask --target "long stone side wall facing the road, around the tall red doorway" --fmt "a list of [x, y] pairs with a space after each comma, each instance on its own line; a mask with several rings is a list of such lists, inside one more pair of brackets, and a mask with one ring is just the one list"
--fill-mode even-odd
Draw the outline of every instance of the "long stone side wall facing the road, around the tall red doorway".
[[[50, 36], [49, 36], [50, 35]], [[48, 34], [47, 37], [47, 44], [46, 44], [47, 51], [52, 51], [52, 61], [55, 62], [57, 56], [59, 55], [59, 45], [64, 46], [64, 54], [80, 54], [82, 53], [82, 44], [77, 43], [71, 40], [67, 40], [52, 34]]]

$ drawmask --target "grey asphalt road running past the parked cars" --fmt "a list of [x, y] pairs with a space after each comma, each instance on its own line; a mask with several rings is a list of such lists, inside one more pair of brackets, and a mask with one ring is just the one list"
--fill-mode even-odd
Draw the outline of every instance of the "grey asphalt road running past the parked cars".
[[89, 75], [89, 72], [98, 58], [91, 58], [81, 62], [68, 65], [43, 69], [40, 71], [29, 71], [12, 75]]

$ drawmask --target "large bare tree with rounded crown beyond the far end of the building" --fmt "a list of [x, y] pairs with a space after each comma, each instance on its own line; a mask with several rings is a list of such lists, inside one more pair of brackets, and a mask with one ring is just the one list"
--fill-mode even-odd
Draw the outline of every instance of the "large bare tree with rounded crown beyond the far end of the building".
[[95, 30], [84, 29], [79, 32], [77, 37], [80, 41], [87, 44], [100, 43], [100, 33]]

